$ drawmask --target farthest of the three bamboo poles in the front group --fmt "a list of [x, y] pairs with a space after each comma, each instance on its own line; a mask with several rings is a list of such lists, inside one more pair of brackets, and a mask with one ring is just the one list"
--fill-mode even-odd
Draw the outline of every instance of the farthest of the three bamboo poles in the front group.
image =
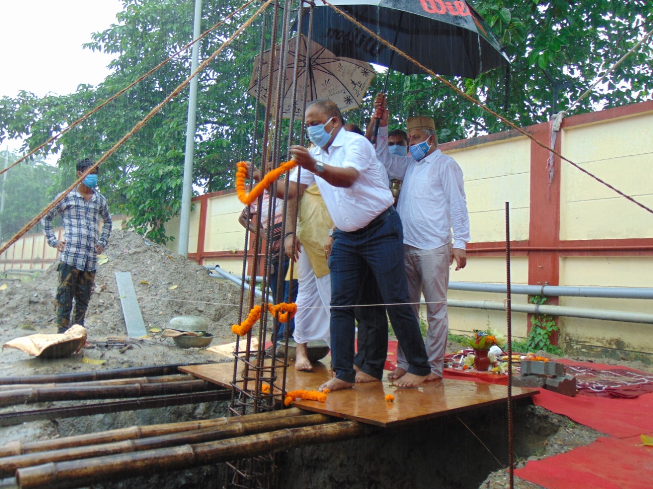
[[113, 441], [121, 441], [126, 439], [147, 438], [152, 436], [178, 433], [182, 431], [201, 430], [203, 428], [224, 426], [238, 421], [242, 422], [248, 419], [282, 419], [285, 417], [299, 416], [307, 413], [308, 411], [304, 411], [299, 408], [290, 408], [281, 409], [279, 411], [269, 411], [267, 413], [261, 414], [248, 414], [240, 417], [222, 417], [204, 419], [201, 421], [182, 421], [165, 424], [148, 424], [146, 426], [130, 426], [129, 428], [118, 428], [116, 430], [107, 430], [98, 433], [88, 433], [84, 435], [67, 436], [64, 438], [32, 441], [30, 443], [14, 441], [0, 447], [0, 457], [59, 450], [67, 447], [81, 447], [83, 445], [93, 445], [95, 443], [111, 443]]

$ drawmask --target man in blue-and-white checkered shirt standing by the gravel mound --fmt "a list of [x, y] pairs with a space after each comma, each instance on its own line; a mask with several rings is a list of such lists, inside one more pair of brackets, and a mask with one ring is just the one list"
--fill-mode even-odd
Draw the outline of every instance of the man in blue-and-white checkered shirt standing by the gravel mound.
[[[91, 166], [93, 160], [89, 158], [78, 162], [77, 177], [81, 177]], [[61, 253], [57, 266], [57, 333], [64, 333], [71, 326], [73, 298], [75, 310], [72, 324], [84, 325], [95, 283], [97, 255], [103, 252], [111, 234], [112, 222], [106, 198], [95, 190], [96, 187], [97, 170], [86, 175], [83, 183], [65, 196], [41, 221], [48, 244]], [[61, 241], [52, 230], [52, 218], [57, 214], [63, 218], [64, 235]], [[101, 235], [100, 218], [103, 220]]]

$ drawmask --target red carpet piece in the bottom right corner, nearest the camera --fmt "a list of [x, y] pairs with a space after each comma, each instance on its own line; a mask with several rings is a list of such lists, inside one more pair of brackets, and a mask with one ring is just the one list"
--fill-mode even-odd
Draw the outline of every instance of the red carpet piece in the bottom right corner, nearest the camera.
[[528, 462], [515, 475], [548, 489], [649, 489], [653, 447], [639, 445], [639, 436], [601, 437], [586, 447]]

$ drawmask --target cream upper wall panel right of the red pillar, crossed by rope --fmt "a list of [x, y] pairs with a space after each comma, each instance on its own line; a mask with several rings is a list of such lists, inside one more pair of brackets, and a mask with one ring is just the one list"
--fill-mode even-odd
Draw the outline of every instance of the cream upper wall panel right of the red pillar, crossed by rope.
[[[562, 130], [562, 154], [653, 207], [653, 113]], [[653, 215], [562, 162], [560, 239], [653, 236]]]

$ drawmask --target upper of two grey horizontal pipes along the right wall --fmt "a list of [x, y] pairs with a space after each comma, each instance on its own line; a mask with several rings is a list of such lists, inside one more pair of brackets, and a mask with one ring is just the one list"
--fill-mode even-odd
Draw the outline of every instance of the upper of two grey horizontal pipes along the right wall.
[[[477, 282], [449, 282], [449, 290], [468, 292], [505, 293], [505, 284]], [[653, 288], [648, 287], [573, 287], [534, 286], [511, 284], [510, 291], [521, 295], [548, 295], [558, 297], [601, 297], [603, 299], [653, 299]]]

